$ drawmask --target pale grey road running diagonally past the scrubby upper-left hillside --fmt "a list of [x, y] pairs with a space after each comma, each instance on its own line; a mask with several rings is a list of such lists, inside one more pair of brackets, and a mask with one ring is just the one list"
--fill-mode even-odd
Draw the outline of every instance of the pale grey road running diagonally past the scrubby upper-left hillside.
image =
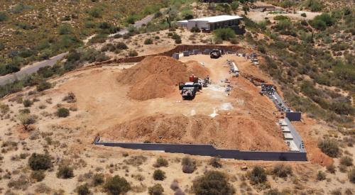
[[[143, 26], [143, 24], [146, 24], [148, 22], [150, 22], [153, 19], [153, 15], [150, 16], [146, 16], [145, 18], [141, 19], [140, 21], [136, 21], [136, 23], [133, 24], [133, 26], [135, 27], [141, 27]], [[121, 34], [124, 35], [125, 33], [128, 33], [128, 28], [124, 28], [121, 29], [119, 31], [119, 33], [115, 33], [115, 34], [111, 34], [109, 35], [109, 37], [112, 37], [116, 34]], [[92, 36], [90, 36], [89, 38], [92, 38]], [[84, 40], [84, 43], [87, 43], [88, 39]], [[23, 67], [20, 71], [15, 72], [13, 74], [6, 74], [4, 76], [0, 77], [0, 85], [4, 85], [4, 84], [8, 84], [11, 82], [16, 81], [17, 79], [21, 79], [23, 77], [25, 77], [28, 74], [32, 74], [34, 72], [37, 72], [38, 69], [40, 69], [41, 67], [47, 67], [47, 66], [53, 66], [55, 65], [55, 63], [58, 62], [58, 60], [62, 60], [63, 57], [65, 57], [65, 55], [67, 55], [68, 52], [63, 52], [59, 55], [55, 55], [53, 57], [50, 57], [49, 60], [43, 60], [40, 62], [34, 62], [32, 65], [28, 65], [26, 67]]]

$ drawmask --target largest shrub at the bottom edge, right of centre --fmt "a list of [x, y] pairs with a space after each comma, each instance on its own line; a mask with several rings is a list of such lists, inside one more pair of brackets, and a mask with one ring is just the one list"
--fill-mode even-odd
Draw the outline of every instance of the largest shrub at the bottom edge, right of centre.
[[192, 184], [192, 190], [197, 195], [202, 194], [234, 194], [235, 190], [229, 184], [227, 177], [218, 171], [205, 172], [202, 177], [198, 177]]

